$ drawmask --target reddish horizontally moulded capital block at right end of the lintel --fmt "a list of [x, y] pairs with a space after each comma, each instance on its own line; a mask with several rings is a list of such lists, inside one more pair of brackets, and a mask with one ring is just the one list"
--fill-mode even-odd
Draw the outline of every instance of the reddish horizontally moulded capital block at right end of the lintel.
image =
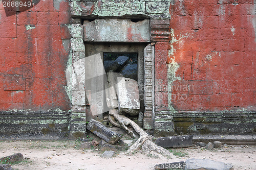
[[169, 34], [169, 19], [151, 19], [151, 41], [152, 42], [166, 42], [170, 39]]

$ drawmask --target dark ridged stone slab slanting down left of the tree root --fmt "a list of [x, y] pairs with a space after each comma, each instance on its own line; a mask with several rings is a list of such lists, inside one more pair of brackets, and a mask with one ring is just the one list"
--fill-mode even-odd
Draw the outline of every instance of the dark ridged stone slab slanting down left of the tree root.
[[110, 144], [115, 144], [122, 137], [94, 119], [90, 120], [87, 129]]

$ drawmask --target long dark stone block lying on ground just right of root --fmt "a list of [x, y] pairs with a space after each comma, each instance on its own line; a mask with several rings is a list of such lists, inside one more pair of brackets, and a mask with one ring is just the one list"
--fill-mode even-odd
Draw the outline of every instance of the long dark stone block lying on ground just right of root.
[[160, 137], [156, 144], [163, 148], [185, 148], [193, 146], [192, 139], [193, 135]]

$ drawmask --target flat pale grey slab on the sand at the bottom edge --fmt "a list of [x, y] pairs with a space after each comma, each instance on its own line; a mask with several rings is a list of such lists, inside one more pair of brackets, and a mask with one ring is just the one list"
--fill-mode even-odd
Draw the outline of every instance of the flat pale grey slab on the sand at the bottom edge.
[[185, 170], [202, 169], [202, 170], [233, 170], [230, 163], [216, 162], [208, 159], [187, 159], [185, 161]]

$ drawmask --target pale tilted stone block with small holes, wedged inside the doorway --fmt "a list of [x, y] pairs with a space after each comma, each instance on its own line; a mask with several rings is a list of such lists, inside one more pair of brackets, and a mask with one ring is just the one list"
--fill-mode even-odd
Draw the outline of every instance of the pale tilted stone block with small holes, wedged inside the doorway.
[[119, 114], [137, 115], [140, 110], [138, 83], [133, 79], [117, 78]]

